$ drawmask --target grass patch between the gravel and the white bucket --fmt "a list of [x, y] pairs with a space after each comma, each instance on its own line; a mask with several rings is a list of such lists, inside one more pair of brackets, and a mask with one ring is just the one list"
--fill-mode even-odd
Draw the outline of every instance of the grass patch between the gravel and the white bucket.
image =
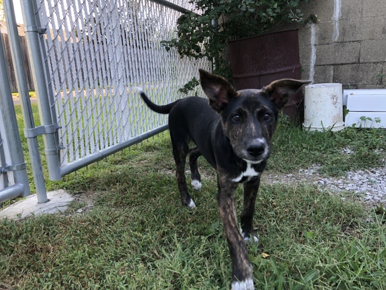
[[[273, 143], [268, 167], [280, 172], [315, 163], [321, 164], [321, 171], [328, 176], [342, 176], [348, 170], [383, 166], [386, 158], [384, 129], [305, 132], [282, 118]], [[347, 147], [355, 154], [342, 153]]]

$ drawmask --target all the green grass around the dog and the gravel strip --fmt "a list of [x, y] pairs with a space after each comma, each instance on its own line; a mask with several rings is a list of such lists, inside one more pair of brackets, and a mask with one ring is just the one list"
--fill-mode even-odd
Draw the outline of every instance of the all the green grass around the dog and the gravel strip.
[[[326, 176], [344, 175], [384, 164], [385, 142], [384, 130], [310, 133], [282, 119], [268, 167], [318, 163]], [[347, 146], [355, 153], [341, 153]], [[180, 204], [166, 133], [47, 183], [94, 206], [0, 221], [0, 288], [230, 288], [215, 172], [203, 159], [199, 165], [207, 178], [192, 192], [194, 210]], [[240, 212], [241, 189], [236, 202]], [[311, 185], [262, 184], [254, 217], [260, 241], [248, 246], [256, 288], [386, 289], [382, 212]]]

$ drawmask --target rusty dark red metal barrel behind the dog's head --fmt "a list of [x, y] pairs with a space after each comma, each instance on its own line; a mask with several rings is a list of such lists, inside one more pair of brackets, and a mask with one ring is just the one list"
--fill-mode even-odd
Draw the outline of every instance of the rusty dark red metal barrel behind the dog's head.
[[[232, 79], [237, 90], [261, 89], [270, 82], [301, 78], [297, 29], [231, 40], [228, 43]], [[303, 120], [303, 93], [284, 108], [290, 119]]]

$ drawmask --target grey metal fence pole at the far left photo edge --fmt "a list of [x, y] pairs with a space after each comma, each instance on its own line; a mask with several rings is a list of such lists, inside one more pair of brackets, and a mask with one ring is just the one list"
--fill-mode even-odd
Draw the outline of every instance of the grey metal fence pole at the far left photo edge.
[[15, 183], [23, 184], [25, 186], [23, 196], [28, 196], [30, 195], [30, 188], [26, 163], [24, 161], [18, 122], [16, 120], [2, 37], [0, 37], [0, 84], [0, 109], [2, 110], [1, 115], [4, 131], [7, 136], [10, 153], [9, 160], [11, 163], [7, 164], [6, 170], [13, 171]]

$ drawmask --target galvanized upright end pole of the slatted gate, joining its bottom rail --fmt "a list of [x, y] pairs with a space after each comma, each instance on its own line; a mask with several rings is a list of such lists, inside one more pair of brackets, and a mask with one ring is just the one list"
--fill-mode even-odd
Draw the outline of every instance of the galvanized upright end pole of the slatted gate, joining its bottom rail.
[[[38, 109], [40, 115], [40, 122], [42, 126], [54, 125], [51, 104], [49, 101], [49, 93], [47, 88], [47, 78], [44, 61], [41, 56], [41, 48], [39, 42], [39, 33], [41, 28], [37, 27], [34, 3], [31, 0], [21, 0], [21, 7], [23, 13], [23, 20], [25, 25], [25, 37], [28, 47], [29, 60], [31, 62], [32, 76], [37, 95]], [[36, 4], [36, 3], [35, 3]], [[48, 172], [51, 180], [60, 180], [60, 162], [58, 144], [56, 144], [57, 133], [47, 133], [43, 135], [44, 152], [47, 159]]]

